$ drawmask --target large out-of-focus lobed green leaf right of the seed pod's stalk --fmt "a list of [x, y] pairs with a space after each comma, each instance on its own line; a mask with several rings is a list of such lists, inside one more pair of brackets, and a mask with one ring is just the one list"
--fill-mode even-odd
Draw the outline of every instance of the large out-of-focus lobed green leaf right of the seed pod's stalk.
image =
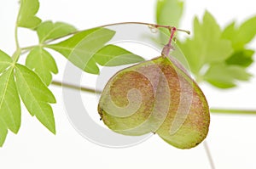
[[208, 12], [201, 23], [195, 18], [194, 36], [185, 42], [178, 42], [178, 45], [197, 80], [207, 81], [219, 88], [236, 87], [237, 81], [249, 80], [251, 75], [246, 68], [252, 64], [254, 52], [243, 48], [241, 41], [239, 46], [237, 42], [231, 41], [228, 37], [233, 33], [230, 25], [221, 31]]

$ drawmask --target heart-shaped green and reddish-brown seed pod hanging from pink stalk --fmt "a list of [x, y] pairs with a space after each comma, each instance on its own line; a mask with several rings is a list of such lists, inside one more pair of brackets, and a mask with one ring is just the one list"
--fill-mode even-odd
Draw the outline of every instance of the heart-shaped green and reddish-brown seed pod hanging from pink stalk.
[[176, 60], [164, 56], [117, 72], [102, 92], [98, 112], [114, 132], [156, 132], [180, 149], [200, 144], [210, 122], [201, 89]]

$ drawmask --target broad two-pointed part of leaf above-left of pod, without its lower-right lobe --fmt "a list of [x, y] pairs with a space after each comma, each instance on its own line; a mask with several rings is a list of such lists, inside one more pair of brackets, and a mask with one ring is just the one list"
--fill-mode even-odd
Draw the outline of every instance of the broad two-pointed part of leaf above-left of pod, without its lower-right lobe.
[[115, 31], [105, 28], [94, 28], [81, 31], [63, 42], [48, 45], [63, 54], [73, 65], [88, 73], [99, 74], [99, 68], [93, 55], [101, 49], [104, 44], [111, 40]]

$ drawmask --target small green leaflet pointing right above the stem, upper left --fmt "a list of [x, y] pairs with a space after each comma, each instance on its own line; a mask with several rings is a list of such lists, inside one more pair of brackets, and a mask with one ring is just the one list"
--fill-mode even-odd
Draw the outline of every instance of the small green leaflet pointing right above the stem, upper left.
[[40, 43], [58, 37], [67, 36], [74, 31], [76, 31], [76, 28], [74, 28], [73, 25], [62, 22], [53, 23], [52, 21], [45, 21], [38, 25], [37, 28]]

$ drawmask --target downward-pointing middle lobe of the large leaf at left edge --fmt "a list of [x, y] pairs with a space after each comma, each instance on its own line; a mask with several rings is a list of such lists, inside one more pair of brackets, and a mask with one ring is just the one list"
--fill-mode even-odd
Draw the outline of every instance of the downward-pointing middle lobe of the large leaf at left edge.
[[9, 68], [0, 76], [0, 117], [12, 132], [19, 131], [20, 98], [16, 89], [13, 68]]

